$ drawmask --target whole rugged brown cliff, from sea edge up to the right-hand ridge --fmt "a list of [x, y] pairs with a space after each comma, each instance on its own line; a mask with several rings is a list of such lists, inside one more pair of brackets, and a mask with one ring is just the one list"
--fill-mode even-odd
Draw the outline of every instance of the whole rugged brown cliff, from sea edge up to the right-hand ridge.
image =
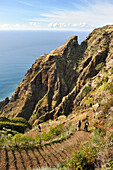
[[50, 54], [40, 56], [16, 88], [10, 101], [0, 107], [6, 117], [22, 116], [31, 123], [68, 115], [82, 99], [82, 89], [98, 74], [96, 66], [112, 55], [113, 26], [95, 29], [78, 44], [77, 36]]

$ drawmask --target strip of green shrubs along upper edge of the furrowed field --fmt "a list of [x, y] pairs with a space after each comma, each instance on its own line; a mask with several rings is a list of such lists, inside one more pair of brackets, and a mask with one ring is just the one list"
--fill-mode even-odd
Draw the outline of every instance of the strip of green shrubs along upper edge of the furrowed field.
[[27, 136], [26, 134], [3, 128], [3, 130], [0, 131], [0, 146], [10, 145], [31, 147], [35, 146], [36, 144], [41, 144], [44, 141], [51, 141], [49, 143], [54, 143], [58, 141], [60, 142], [63, 141], [65, 138], [70, 137], [72, 131], [75, 131], [75, 129], [73, 129], [72, 123], [69, 123], [68, 126], [65, 128], [63, 127], [63, 124], [59, 124], [55, 127], [50, 127], [48, 132], [41, 132], [39, 135], [33, 138], [32, 136]]

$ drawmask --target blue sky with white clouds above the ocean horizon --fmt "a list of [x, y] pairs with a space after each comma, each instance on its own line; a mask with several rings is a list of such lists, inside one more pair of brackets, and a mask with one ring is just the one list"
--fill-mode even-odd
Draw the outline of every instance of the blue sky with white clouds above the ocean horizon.
[[113, 24], [113, 0], [0, 0], [0, 30], [90, 31]]

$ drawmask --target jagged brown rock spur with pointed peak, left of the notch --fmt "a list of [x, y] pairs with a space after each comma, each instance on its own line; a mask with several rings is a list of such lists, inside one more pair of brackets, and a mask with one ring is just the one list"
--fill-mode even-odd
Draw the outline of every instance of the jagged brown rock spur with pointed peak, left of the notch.
[[23, 116], [34, 121], [56, 108], [62, 97], [76, 85], [77, 63], [83, 51], [74, 36], [62, 47], [40, 56], [1, 114], [6, 117]]

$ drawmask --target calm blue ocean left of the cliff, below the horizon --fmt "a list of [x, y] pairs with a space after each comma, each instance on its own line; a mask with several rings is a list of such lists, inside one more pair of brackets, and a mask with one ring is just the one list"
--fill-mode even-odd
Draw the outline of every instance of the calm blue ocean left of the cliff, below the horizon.
[[0, 31], [0, 101], [11, 97], [27, 70], [42, 54], [78, 36], [81, 43], [89, 32]]

